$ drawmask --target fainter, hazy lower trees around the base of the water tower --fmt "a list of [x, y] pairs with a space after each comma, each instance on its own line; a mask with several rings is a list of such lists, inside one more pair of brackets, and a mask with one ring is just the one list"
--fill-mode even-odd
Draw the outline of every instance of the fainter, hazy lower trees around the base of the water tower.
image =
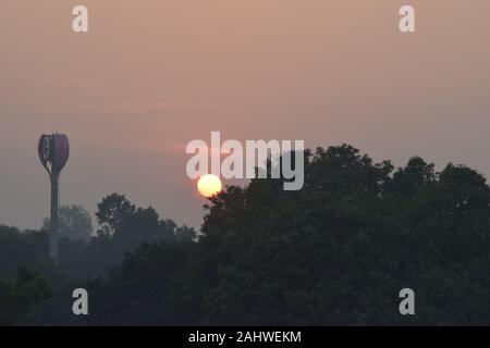
[[56, 263], [48, 254], [49, 220], [41, 231], [0, 225], [0, 324], [71, 323], [75, 287], [105, 277], [144, 243], [194, 243], [197, 237], [193, 228], [160, 219], [151, 207], [136, 208], [123, 195], [107, 196], [96, 216], [100, 228], [93, 235], [85, 209], [61, 207]]

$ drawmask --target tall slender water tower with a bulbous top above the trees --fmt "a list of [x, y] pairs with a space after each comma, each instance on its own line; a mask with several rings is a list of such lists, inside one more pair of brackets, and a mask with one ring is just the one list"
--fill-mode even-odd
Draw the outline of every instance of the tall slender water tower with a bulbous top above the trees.
[[41, 135], [37, 147], [42, 166], [51, 181], [51, 217], [49, 226], [49, 256], [58, 258], [58, 199], [60, 173], [70, 156], [70, 142], [64, 134]]

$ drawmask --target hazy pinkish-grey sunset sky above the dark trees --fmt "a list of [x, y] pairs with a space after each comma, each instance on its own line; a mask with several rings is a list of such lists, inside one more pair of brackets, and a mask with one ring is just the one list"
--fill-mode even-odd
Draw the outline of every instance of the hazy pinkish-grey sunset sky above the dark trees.
[[[89, 10], [89, 33], [71, 29]], [[413, 4], [417, 33], [399, 32]], [[198, 226], [185, 145], [348, 142], [490, 175], [488, 0], [0, 0], [0, 223], [39, 227], [40, 134], [71, 140], [61, 203], [118, 191]]]

